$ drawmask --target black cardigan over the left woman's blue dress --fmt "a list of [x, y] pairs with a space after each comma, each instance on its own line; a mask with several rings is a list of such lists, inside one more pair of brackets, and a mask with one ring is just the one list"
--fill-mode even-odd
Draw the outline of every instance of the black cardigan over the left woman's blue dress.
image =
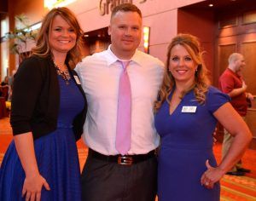
[[[71, 71], [69, 67], [68, 69], [71, 75], [76, 75], [76, 72]], [[74, 135], [76, 140], [79, 140], [83, 133], [87, 101], [81, 85], [77, 86], [84, 96], [85, 103], [83, 111], [73, 121]], [[60, 86], [53, 60], [50, 57], [38, 56], [24, 60], [14, 79], [10, 115], [13, 135], [32, 132], [33, 139], [36, 140], [53, 132], [57, 126], [59, 108]]]

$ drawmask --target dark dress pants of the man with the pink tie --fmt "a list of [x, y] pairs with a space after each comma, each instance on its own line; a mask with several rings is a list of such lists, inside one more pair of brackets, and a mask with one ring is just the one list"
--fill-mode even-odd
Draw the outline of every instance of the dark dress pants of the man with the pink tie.
[[82, 201], [154, 201], [157, 159], [121, 165], [89, 154], [81, 178]]

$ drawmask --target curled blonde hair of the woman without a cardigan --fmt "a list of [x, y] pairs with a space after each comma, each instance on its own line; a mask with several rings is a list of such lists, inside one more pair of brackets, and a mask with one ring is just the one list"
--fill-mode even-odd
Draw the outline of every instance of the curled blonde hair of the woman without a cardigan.
[[168, 96], [171, 94], [172, 89], [175, 87], [175, 79], [172, 77], [172, 73], [168, 70], [170, 66], [170, 57], [172, 48], [180, 44], [182, 45], [192, 57], [195, 64], [197, 65], [197, 70], [195, 72], [195, 83], [189, 88], [183, 91], [182, 97], [186, 95], [191, 89], [194, 90], [195, 99], [203, 104], [206, 100], [206, 93], [210, 84], [209, 78], [207, 77], [208, 71], [203, 62], [202, 55], [203, 51], [201, 51], [201, 45], [197, 39], [197, 37], [190, 34], [180, 33], [177, 37], [172, 38], [172, 42], [168, 47], [167, 52], [167, 60], [166, 60], [166, 69], [164, 72], [163, 83], [160, 88], [159, 99], [154, 104], [154, 111], [157, 112], [163, 102], [166, 100], [170, 104], [170, 100], [168, 100]]

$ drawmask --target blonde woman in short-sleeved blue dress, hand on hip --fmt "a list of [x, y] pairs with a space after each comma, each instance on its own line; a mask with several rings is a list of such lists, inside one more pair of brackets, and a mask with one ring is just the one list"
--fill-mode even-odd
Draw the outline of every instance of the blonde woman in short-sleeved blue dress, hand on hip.
[[[178, 34], [168, 48], [155, 104], [155, 127], [161, 137], [160, 201], [219, 200], [218, 181], [241, 158], [252, 138], [228, 95], [209, 84], [202, 53], [198, 39], [189, 34]], [[217, 121], [234, 135], [229, 153], [218, 165], [212, 153]]]

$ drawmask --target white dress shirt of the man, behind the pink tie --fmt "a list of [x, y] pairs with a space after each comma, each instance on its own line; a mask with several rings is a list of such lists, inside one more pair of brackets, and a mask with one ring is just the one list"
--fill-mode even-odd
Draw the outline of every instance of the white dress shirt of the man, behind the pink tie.
[[[122, 66], [107, 50], [84, 58], [76, 68], [87, 101], [88, 112], [82, 138], [87, 146], [104, 155], [116, 155], [115, 148], [119, 77]], [[162, 83], [164, 65], [139, 50], [127, 72], [131, 82], [131, 149], [128, 154], [147, 153], [160, 144], [154, 129], [154, 101]]]

